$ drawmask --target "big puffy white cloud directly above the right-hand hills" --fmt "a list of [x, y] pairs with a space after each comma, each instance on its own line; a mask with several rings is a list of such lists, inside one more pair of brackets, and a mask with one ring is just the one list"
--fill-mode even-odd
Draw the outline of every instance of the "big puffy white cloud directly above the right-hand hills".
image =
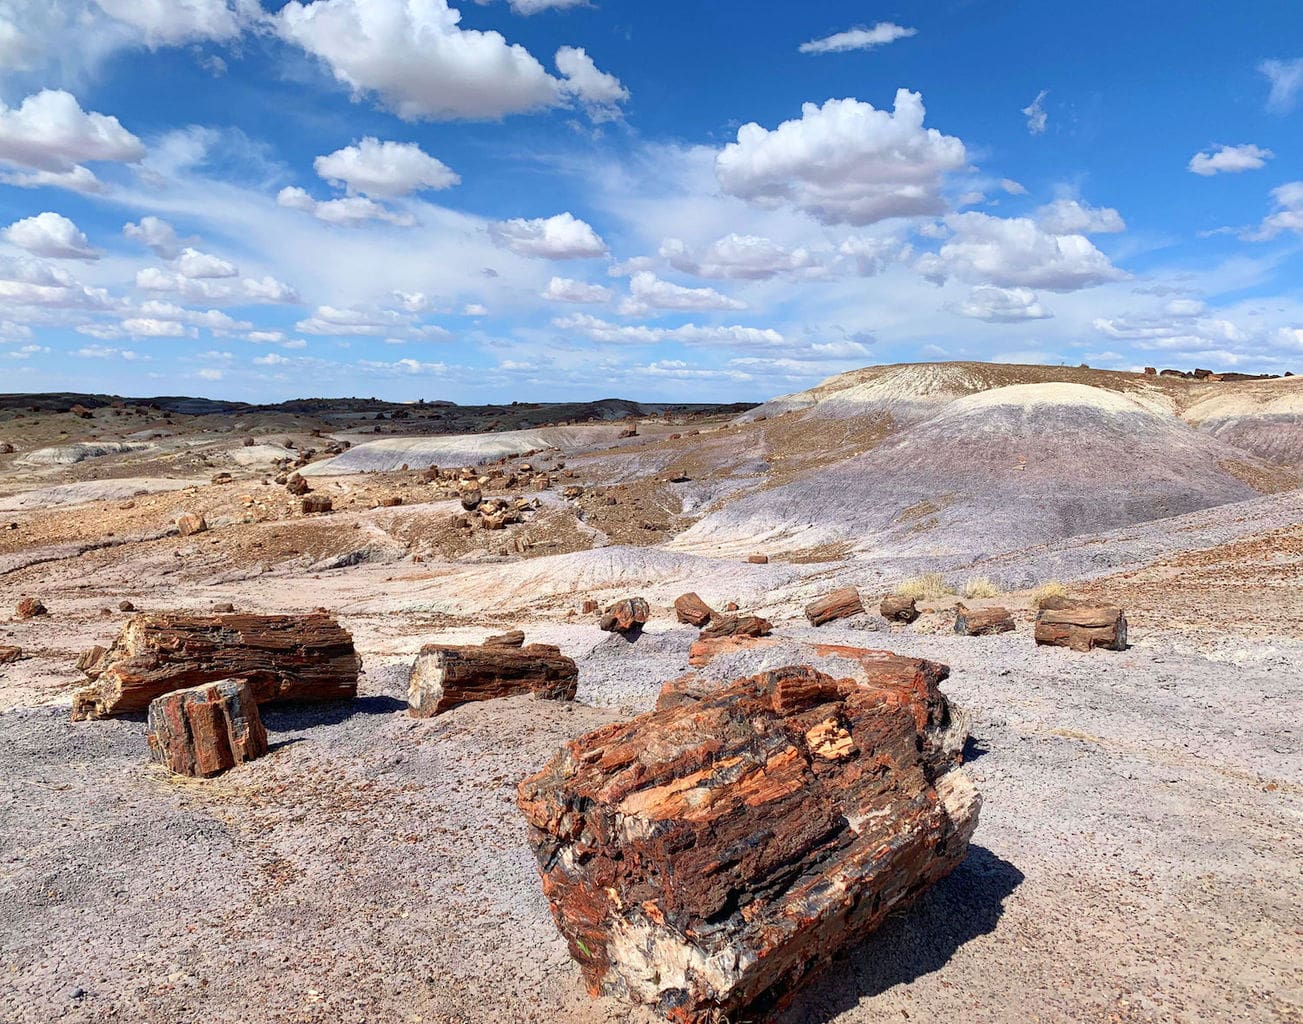
[[857, 99], [807, 103], [773, 132], [737, 130], [715, 159], [719, 185], [756, 206], [784, 205], [825, 224], [872, 224], [939, 214], [946, 172], [966, 165], [964, 143], [924, 128], [923, 98], [898, 90], [893, 112]]

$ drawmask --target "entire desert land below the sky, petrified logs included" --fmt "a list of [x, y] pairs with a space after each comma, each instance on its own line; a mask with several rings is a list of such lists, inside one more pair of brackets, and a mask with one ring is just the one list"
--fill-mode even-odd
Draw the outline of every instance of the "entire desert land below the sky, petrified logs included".
[[[1300, 1020], [1300, 380], [933, 362], [758, 406], [4, 396], [3, 1016]], [[1113, 619], [1055, 634], [1074, 608]], [[276, 671], [240, 668], [267, 621]], [[261, 718], [262, 748], [220, 740], [205, 771], [216, 747], [156, 715], [240, 672], [206, 700], [242, 694], [227, 723]], [[795, 789], [718, 803], [778, 784], [745, 737], [812, 701]], [[900, 701], [919, 731], [872, 733], [896, 765], [876, 814], [954, 838], [853, 885], [838, 847], [842, 902], [801, 898], [813, 952], [786, 964], [804, 933], [747, 908], [823, 870], [822, 808], [869, 827], [837, 809], [876, 778], [847, 750]], [[679, 782], [646, 789], [685, 728]], [[751, 782], [718, 775], [737, 728]], [[619, 744], [650, 775], [584, 782]], [[609, 934], [635, 920], [615, 889], [567, 917], [605, 861], [556, 816], [616, 784], [609, 885], [679, 862], [671, 915], [723, 872], [745, 899], [692, 942], [764, 933], [777, 988]], [[687, 866], [730, 830], [796, 866]]]

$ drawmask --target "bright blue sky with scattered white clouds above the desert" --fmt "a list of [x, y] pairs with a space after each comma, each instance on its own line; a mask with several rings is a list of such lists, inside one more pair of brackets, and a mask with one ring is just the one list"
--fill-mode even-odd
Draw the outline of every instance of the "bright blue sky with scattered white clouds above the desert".
[[0, 0], [0, 390], [1303, 371], [1303, 8]]

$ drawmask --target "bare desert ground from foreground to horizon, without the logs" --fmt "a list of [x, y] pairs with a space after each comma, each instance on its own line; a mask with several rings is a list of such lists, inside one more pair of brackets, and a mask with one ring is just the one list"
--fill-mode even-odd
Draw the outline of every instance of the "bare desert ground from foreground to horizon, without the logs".
[[[966, 762], [984, 803], [968, 859], [838, 951], [783, 1021], [1303, 1021], [1303, 491], [1280, 456], [1303, 464], [1281, 444], [1295, 421], [1273, 433], [1276, 420], [1244, 422], [1251, 396], [1231, 403], [1218, 430], [1270, 438], [1263, 453], [1233, 448], [1187, 416], [1208, 401], [1197, 386], [1113, 377], [1067, 383], [1134, 392], [1140, 412], [1019, 392], [1003, 418], [975, 418], [971, 401], [958, 420], [933, 414], [932, 403], [1044, 383], [1001, 374], [946, 378], [943, 401], [930, 377], [885, 400], [863, 393], [881, 378], [856, 378], [826, 388], [851, 408], [821, 409], [821, 392], [741, 418], [645, 416], [635, 436], [619, 436], [624, 420], [558, 427], [569, 433], [545, 434], [552, 447], [512, 455], [496, 455], [500, 430], [455, 443], [413, 430], [407, 469], [367, 448], [370, 425], [321, 409], [266, 423], [152, 410], [133, 413], [132, 431], [112, 406], [0, 422], [17, 449], [0, 456], [0, 644], [23, 653], [0, 666], [0, 1020], [650, 1024], [585, 993], [515, 788], [564, 741], [649, 710], [688, 670], [697, 631], [671, 604], [696, 590], [765, 615], [777, 636], [945, 662], [946, 694], [972, 715]], [[1160, 431], [1144, 417], [1164, 403]], [[1097, 508], [1130, 509], [1124, 520], [1065, 517], [1054, 481], [1072, 465], [1037, 439], [1096, 416], [1098, 436], [1139, 425], [1178, 469], [1203, 460], [1203, 476], [1123, 469], [1096, 490], [1113, 495]], [[1018, 529], [972, 511], [989, 494], [945, 460], [916, 459], [917, 486], [878, 462], [861, 479], [857, 460], [902, 438], [939, 444], [946, 422], [956, 440], [989, 427], [969, 457], [990, 460], [999, 494], [1019, 489]], [[141, 431], [164, 436], [128, 438]], [[332, 500], [305, 516], [276, 477], [306, 448], [345, 440], [335, 465], [301, 466]], [[78, 444], [143, 447], [66, 461]], [[519, 522], [465, 525], [456, 479], [425, 472], [465, 477], [470, 460], [440, 451], [474, 444], [495, 452], [476, 473], [502, 470], [485, 496], [530, 504]], [[1079, 466], [1109, 455], [1071, 451]], [[1216, 476], [1218, 459], [1233, 472]], [[823, 519], [784, 519], [784, 489], [803, 487]], [[881, 522], [860, 515], [873, 500]], [[208, 529], [179, 535], [181, 513]], [[852, 526], [823, 529], [838, 521]], [[920, 601], [912, 625], [874, 614], [928, 572], [954, 590], [989, 580], [993, 595], [967, 603], [1011, 608], [1016, 629], [956, 636], [952, 594]], [[1130, 647], [1037, 647], [1032, 588], [1052, 578], [1123, 604]], [[804, 604], [844, 585], [869, 612], [810, 627]], [[582, 611], [632, 594], [653, 611], [635, 640]], [[48, 614], [10, 618], [27, 595]], [[326, 607], [354, 636], [360, 696], [266, 707], [270, 756], [215, 779], [171, 776], [149, 760], [142, 717], [69, 720], [77, 657], [116, 636], [132, 614], [121, 602]], [[506, 628], [575, 658], [575, 702], [405, 714], [421, 645]]]

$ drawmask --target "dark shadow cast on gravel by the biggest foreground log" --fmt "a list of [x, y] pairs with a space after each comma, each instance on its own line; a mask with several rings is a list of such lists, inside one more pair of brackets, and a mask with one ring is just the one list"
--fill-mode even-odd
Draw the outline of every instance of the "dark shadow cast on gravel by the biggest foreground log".
[[778, 1020], [826, 1024], [894, 985], [939, 971], [964, 943], [995, 930], [1005, 900], [1023, 878], [1007, 860], [969, 846], [959, 868], [864, 943], [837, 956]]

